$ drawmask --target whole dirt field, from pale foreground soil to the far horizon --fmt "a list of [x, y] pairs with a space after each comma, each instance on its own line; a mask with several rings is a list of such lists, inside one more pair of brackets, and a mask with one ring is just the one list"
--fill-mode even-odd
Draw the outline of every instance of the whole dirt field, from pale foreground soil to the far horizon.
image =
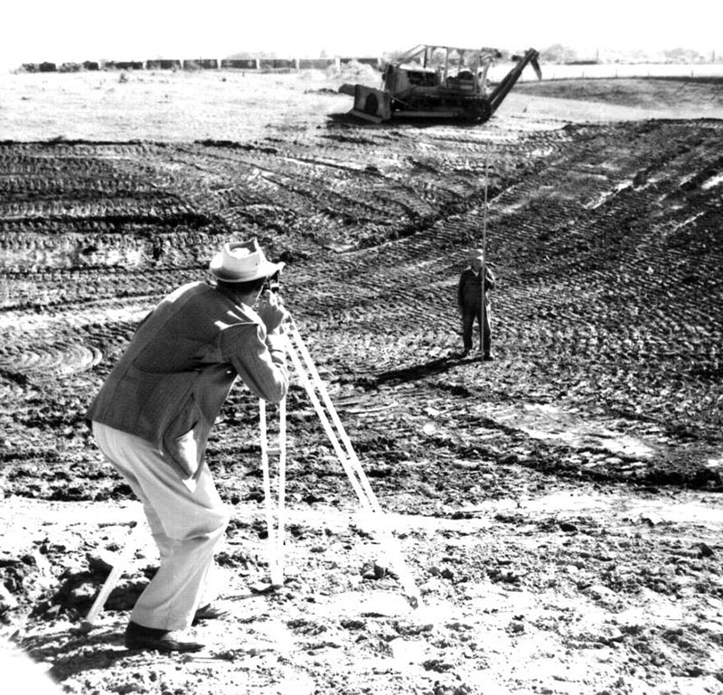
[[[723, 692], [720, 82], [525, 83], [482, 127], [371, 126], [349, 78], [0, 80], [6, 641], [83, 694]], [[494, 362], [456, 357], [485, 217]], [[82, 413], [230, 236], [286, 261], [422, 606], [296, 382], [286, 583], [249, 590], [268, 555], [239, 387], [208, 455], [233, 618], [192, 657], [127, 653], [157, 557], [142, 530], [79, 631], [139, 518]]]

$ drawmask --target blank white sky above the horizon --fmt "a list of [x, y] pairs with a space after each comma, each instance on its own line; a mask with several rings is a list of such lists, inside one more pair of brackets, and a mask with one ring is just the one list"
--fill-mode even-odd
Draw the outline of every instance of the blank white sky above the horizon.
[[[10, 6], [7, 6], [10, 5]], [[0, 66], [23, 62], [380, 56], [418, 43], [518, 52], [691, 48], [723, 56], [723, 0], [33, 0], [8, 2]]]

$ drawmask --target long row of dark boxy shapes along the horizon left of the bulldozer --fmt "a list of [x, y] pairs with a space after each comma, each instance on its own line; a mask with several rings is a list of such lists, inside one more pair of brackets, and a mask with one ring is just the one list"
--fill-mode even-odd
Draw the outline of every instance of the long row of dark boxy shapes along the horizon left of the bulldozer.
[[26, 62], [25, 72], [79, 72], [80, 70], [326, 70], [353, 61], [380, 69], [380, 58], [194, 58], [187, 60], [152, 59], [148, 61]]

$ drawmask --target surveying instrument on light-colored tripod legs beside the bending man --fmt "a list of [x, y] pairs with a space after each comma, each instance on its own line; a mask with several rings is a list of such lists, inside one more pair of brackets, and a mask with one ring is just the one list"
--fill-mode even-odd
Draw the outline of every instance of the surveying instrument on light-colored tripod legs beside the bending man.
[[[280, 271], [279, 271], [280, 272]], [[278, 292], [279, 273], [267, 280], [266, 289]], [[371, 522], [373, 531], [377, 533], [383, 554], [390, 561], [390, 565], [399, 578], [403, 595], [409, 606], [420, 608], [421, 600], [411, 573], [408, 570], [399, 549], [399, 543], [390, 531], [390, 526], [380, 503], [371, 489], [369, 480], [364, 473], [359, 457], [352, 446], [352, 441], [344, 430], [342, 420], [333, 406], [329, 392], [324, 381], [316, 370], [315, 363], [306, 344], [298, 331], [296, 322], [291, 315], [286, 317], [284, 325], [284, 339], [287, 356], [291, 359], [296, 376], [304, 387], [314, 406], [316, 414], [324, 427], [324, 432], [333, 446], [334, 454], [349, 477], [352, 489]], [[265, 497], [265, 515], [268, 528], [268, 566], [270, 584], [267, 590], [275, 590], [284, 584], [284, 526], [286, 517], [286, 397], [278, 403], [278, 435], [277, 446], [269, 446], [267, 403], [264, 399], [258, 400], [259, 410], [259, 437], [261, 447], [261, 467], [263, 474], [263, 488]], [[270, 457], [277, 456], [277, 507], [274, 509], [274, 500], [271, 493], [271, 465]], [[96, 625], [99, 615], [105, 606], [108, 596], [116, 586], [127, 563], [130, 561], [138, 544], [138, 534], [143, 528], [142, 524], [135, 522], [124, 548], [118, 553], [117, 561], [113, 565], [108, 578], [101, 587], [98, 596], [90, 607], [81, 630], [89, 632]], [[264, 592], [265, 593], [265, 592]]]

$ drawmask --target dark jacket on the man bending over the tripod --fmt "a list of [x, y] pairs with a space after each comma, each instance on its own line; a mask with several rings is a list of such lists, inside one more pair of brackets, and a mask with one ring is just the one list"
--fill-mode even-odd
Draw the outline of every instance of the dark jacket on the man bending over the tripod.
[[151, 442], [189, 480], [237, 376], [259, 398], [283, 399], [283, 336], [268, 335], [248, 306], [190, 283], [141, 322], [86, 418]]

